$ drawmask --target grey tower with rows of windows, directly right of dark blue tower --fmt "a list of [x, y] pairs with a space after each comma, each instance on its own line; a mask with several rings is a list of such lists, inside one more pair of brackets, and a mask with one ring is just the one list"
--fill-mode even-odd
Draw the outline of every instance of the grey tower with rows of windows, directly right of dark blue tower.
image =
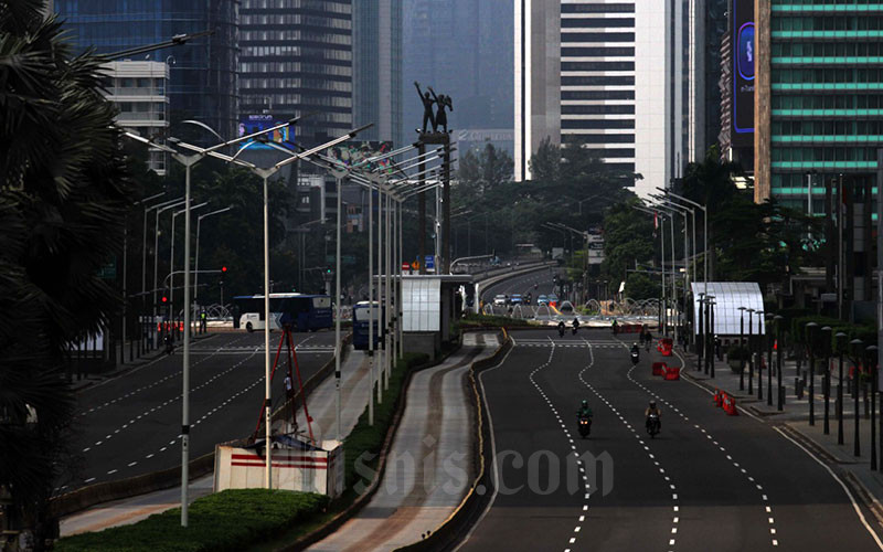
[[240, 12], [241, 115], [304, 116], [307, 147], [351, 129], [351, 1], [242, 0]]

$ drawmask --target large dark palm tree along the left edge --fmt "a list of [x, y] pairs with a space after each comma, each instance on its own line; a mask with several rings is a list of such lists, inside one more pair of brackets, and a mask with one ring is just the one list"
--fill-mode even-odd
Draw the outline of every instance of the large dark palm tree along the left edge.
[[42, 0], [0, 0], [0, 498], [42, 548], [70, 465], [67, 344], [119, 306], [98, 277], [121, 242], [132, 187], [99, 91]]

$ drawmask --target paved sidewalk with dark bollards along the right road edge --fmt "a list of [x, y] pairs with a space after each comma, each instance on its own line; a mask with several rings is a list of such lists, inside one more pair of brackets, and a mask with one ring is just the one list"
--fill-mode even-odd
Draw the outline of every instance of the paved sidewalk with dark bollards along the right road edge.
[[[694, 353], [683, 353], [678, 351], [684, 360], [684, 369], [681, 374], [690, 378], [706, 389], [714, 391], [720, 389], [726, 392], [736, 400], [736, 404], [745, 408], [751, 414], [766, 420], [768, 423], [780, 427], [788, 433], [796, 440], [801, 442], [804, 446], [809, 448], [813, 454], [819, 456], [823, 461], [829, 465], [838, 467], [847, 479], [853, 482], [853, 487], [858, 487], [861, 495], [864, 495], [865, 501], [875, 505], [874, 513], [877, 518], [883, 516], [883, 474], [877, 468], [876, 471], [871, 470], [871, 420], [870, 415], [865, 416], [865, 403], [863, 396], [859, 401], [859, 444], [860, 456], [854, 455], [854, 428], [855, 428], [855, 401], [850, 393], [848, 393], [848, 374], [849, 370], [847, 364], [843, 365], [843, 445], [838, 445], [838, 422], [837, 422], [837, 383], [838, 383], [838, 364], [833, 362], [831, 370], [831, 397], [829, 402], [829, 434], [825, 434], [825, 395], [822, 394], [822, 375], [816, 374], [815, 378], [815, 425], [809, 424], [809, 382], [807, 381], [804, 389], [802, 399], [797, 397], [796, 380], [797, 380], [797, 363], [795, 361], [786, 361], [783, 359], [783, 378], [781, 384], [785, 388], [785, 404], [781, 412], [778, 411], [778, 378], [775, 371], [776, 357], [773, 355], [774, 371], [773, 371], [773, 405], [768, 404], [767, 389], [767, 371], [763, 370], [763, 400], [757, 399], [757, 373], [755, 371], [753, 381], [753, 393], [748, 394], [748, 369], [745, 368], [744, 389], [740, 389], [740, 374], [734, 372], [726, 362], [717, 361], [715, 359], [714, 372], [715, 378], [711, 379], [710, 375], [696, 370], [696, 355]], [[678, 357], [672, 357], [678, 361]], [[671, 361], [670, 361], [671, 362]], [[801, 365], [801, 375], [807, 370], [806, 363]], [[808, 378], [808, 375], [807, 375]], [[870, 401], [870, 394], [869, 394]], [[880, 405], [877, 405], [877, 415], [880, 414]], [[877, 417], [880, 424], [880, 417]], [[877, 425], [877, 432], [880, 432]], [[877, 435], [877, 447], [881, 445], [880, 435]], [[881, 460], [883, 458], [877, 458]], [[883, 466], [883, 463], [879, 463]], [[858, 485], [855, 485], [858, 484]]]

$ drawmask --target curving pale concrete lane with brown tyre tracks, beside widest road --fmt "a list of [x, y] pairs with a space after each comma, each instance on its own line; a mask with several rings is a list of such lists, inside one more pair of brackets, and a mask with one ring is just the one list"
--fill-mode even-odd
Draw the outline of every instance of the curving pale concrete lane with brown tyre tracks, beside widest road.
[[394, 550], [419, 541], [450, 516], [475, 477], [475, 424], [465, 378], [472, 362], [498, 347], [496, 333], [470, 332], [457, 353], [414, 374], [377, 492], [309, 550]]

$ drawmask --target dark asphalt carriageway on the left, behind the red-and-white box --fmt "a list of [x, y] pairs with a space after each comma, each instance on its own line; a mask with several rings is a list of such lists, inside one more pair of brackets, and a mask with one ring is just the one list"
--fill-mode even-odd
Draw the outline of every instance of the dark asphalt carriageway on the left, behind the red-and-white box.
[[[280, 333], [270, 336], [275, 355]], [[333, 331], [292, 333], [302, 380], [333, 354]], [[264, 397], [264, 335], [217, 333], [192, 344], [190, 457], [254, 432]], [[273, 360], [273, 357], [270, 360]], [[181, 465], [182, 349], [77, 394], [73, 490]], [[280, 368], [280, 370], [283, 370]], [[283, 400], [284, 372], [274, 378], [274, 407]], [[297, 385], [297, 383], [295, 383]]]

